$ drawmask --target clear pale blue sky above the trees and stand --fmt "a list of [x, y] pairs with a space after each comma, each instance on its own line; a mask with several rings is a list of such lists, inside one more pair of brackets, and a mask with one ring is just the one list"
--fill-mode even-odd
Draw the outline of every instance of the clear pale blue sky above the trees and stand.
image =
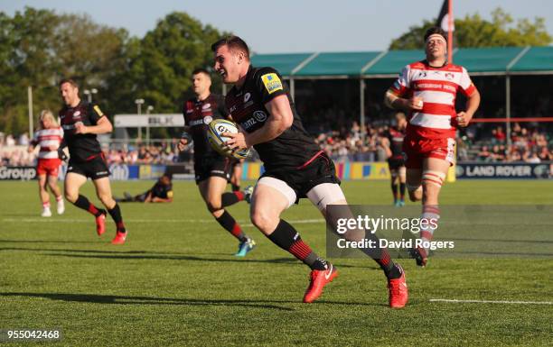
[[[142, 37], [165, 14], [184, 11], [202, 23], [235, 32], [258, 53], [385, 50], [411, 25], [437, 16], [443, 0], [0, 0], [13, 15], [24, 6], [86, 13], [97, 23], [124, 27]], [[478, 12], [490, 18], [501, 6], [516, 18], [546, 18], [553, 34], [551, 0], [454, 0], [455, 16]]]

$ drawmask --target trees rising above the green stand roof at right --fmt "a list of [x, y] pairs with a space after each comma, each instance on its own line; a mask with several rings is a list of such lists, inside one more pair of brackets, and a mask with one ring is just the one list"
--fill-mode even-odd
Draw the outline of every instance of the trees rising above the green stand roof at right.
[[[426, 29], [435, 25], [436, 20], [425, 20], [422, 25], [411, 26], [398, 39], [393, 40], [390, 50], [418, 50], [424, 48], [423, 36]], [[484, 20], [480, 14], [467, 14], [455, 19], [455, 47], [507, 47], [507, 46], [547, 46], [553, 38], [547, 32], [545, 20], [535, 18], [520, 19], [517, 23], [511, 14], [500, 7], [492, 11], [492, 22]]]

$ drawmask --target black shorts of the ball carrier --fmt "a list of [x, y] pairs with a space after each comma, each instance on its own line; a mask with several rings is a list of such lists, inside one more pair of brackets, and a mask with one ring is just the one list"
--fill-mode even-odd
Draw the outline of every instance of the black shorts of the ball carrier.
[[323, 183], [340, 184], [340, 178], [336, 177], [336, 168], [333, 160], [326, 153], [321, 152], [317, 157], [304, 168], [283, 168], [269, 169], [261, 175], [261, 178], [270, 177], [285, 181], [288, 187], [295, 191], [295, 196], [299, 201], [307, 197], [313, 187]]

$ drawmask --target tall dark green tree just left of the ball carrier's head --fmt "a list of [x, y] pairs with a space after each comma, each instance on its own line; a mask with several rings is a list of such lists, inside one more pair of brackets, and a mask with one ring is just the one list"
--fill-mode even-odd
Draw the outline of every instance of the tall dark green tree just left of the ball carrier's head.
[[[211, 25], [182, 12], [167, 14], [141, 41], [127, 47], [127, 67], [110, 82], [110, 90], [127, 110], [137, 97], [153, 105], [156, 113], [180, 113], [185, 97], [191, 96], [195, 68], [212, 65], [211, 43], [221, 36]], [[217, 84], [215, 78], [214, 84]], [[220, 88], [218, 85], [213, 90]], [[153, 135], [166, 136], [166, 129]]]

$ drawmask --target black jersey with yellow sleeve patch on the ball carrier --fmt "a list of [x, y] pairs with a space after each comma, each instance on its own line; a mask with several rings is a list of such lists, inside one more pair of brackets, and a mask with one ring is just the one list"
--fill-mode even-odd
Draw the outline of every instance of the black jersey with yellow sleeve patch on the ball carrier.
[[255, 132], [262, 127], [270, 114], [265, 105], [277, 96], [286, 96], [292, 108], [294, 123], [277, 138], [254, 145], [266, 170], [283, 167], [298, 168], [311, 160], [321, 149], [305, 131], [295, 112], [295, 105], [288, 87], [274, 68], [249, 67], [244, 85], [232, 87], [225, 101], [232, 120], [245, 132]]

